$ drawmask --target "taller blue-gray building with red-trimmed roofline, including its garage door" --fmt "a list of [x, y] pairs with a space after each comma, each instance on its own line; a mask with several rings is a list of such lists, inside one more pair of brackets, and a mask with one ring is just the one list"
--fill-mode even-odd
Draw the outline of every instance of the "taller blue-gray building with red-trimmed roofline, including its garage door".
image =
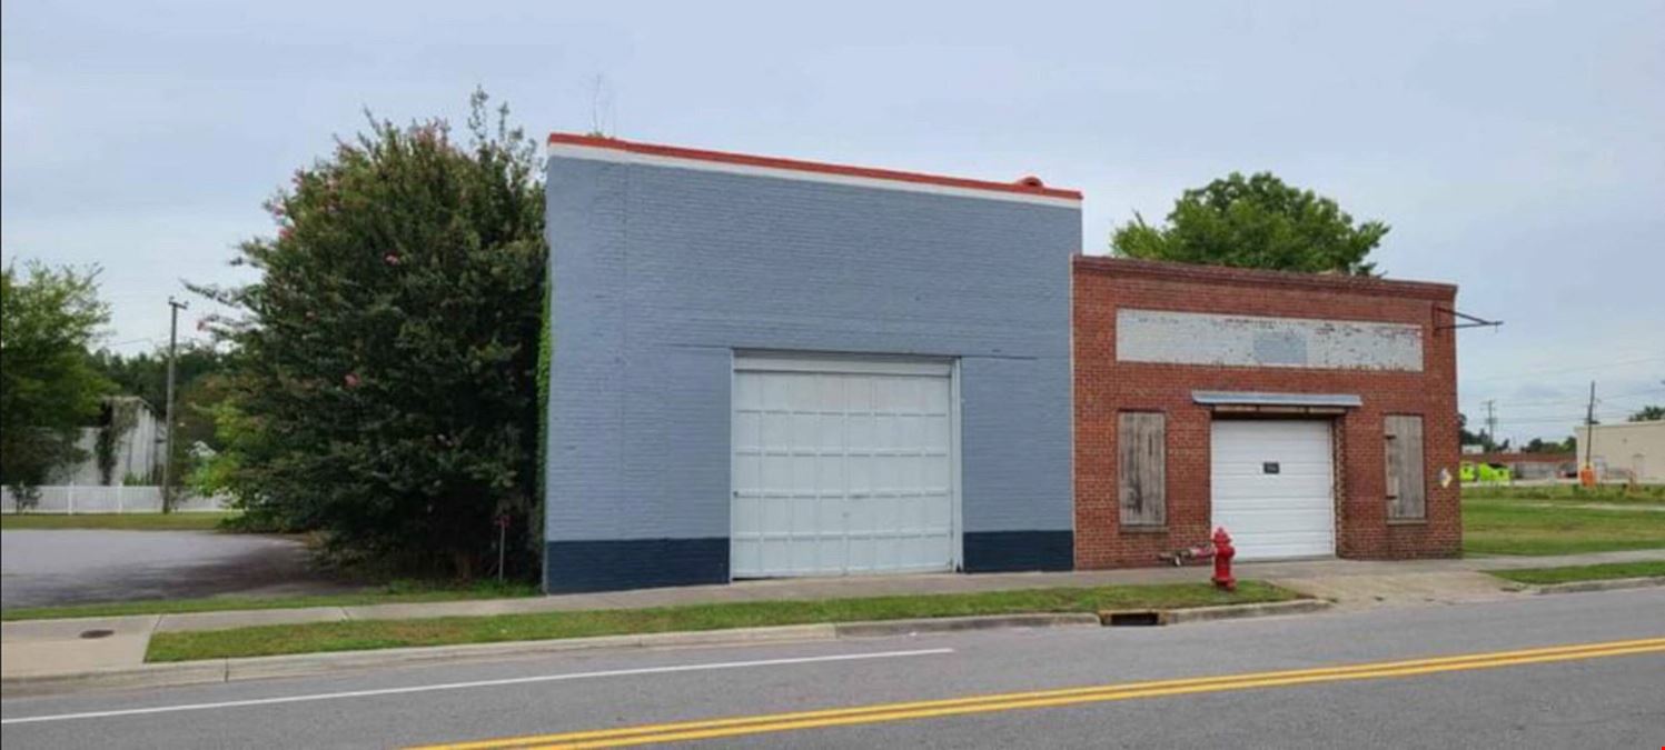
[[1072, 564], [1081, 196], [553, 135], [544, 589]]

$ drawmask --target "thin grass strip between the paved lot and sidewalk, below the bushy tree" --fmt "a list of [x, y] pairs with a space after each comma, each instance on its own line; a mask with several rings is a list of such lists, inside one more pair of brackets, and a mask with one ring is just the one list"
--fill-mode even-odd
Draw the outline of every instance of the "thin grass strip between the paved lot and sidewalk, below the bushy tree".
[[413, 580], [383, 584], [363, 592], [301, 597], [203, 597], [150, 599], [142, 602], [77, 604], [67, 607], [25, 607], [0, 612], [0, 620], [52, 620], [65, 617], [120, 617], [185, 612], [226, 612], [240, 609], [363, 607], [371, 604], [456, 602], [466, 599], [533, 597], [533, 584], [481, 582], [445, 585]]

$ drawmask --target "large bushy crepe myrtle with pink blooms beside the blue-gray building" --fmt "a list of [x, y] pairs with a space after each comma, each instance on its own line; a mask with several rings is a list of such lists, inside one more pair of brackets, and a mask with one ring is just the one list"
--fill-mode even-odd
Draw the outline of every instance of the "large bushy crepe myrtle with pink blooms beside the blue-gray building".
[[226, 449], [200, 476], [250, 517], [316, 529], [345, 560], [534, 570], [536, 356], [544, 286], [536, 148], [471, 96], [445, 120], [368, 131], [266, 205], [241, 244], [260, 279], [196, 291], [240, 309], [220, 407]]

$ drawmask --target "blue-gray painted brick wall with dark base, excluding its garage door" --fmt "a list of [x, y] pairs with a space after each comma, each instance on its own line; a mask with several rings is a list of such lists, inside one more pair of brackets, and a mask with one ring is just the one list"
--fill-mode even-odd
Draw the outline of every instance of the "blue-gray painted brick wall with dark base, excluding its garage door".
[[551, 156], [548, 234], [548, 590], [728, 580], [736, 349], [959, 358], [966, 567], [1069, 565], [1077, 208]]

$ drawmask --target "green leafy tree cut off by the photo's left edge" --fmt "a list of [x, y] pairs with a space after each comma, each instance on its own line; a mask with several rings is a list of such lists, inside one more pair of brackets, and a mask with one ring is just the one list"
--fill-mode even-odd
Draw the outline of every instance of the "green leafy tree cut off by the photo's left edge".
[[0, 481], [20, 507], [53, 469], [85, 457], [75, 442], [110, 387], [87, 346], [108, 319], [97, 268], [0, 271]]

